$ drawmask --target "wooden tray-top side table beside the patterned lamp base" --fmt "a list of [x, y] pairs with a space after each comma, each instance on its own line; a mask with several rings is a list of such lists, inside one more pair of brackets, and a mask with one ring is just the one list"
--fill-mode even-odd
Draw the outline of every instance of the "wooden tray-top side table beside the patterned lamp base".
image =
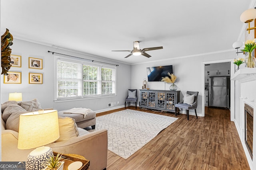
[[[58, 152], [53, 152], [54, 156], [58, 154]], [[90, 160], [87, 160], [84, 158], [84, 156], [78, 155], [78, 154], [62, 154], [62, 156], [65, 156], [64, 158], [64, 168], [68, 170], [68, 166], [76, 161], [80, 161], [83, 163], [82, 167], [79, 170], [89, 170], [90, 166]], [[65, 160], [66, 159], [66, 160]]]

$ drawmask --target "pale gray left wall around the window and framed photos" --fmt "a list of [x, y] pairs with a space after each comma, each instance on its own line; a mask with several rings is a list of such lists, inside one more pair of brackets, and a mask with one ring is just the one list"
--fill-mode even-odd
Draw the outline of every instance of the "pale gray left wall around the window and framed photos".
[[[21, 84], [4, 84], [1, 83], [1, 101], [6, 102], [8, 100], [8, 94], [12, 92], [22, 92], [23, 101], [29, 101], [37, 98], [42, 105], [42, 108], [54, 108], [57, 110], [70, 109], [73, 107], [86, 107], [96, 112], [104, 111], [104, 109], [111, 109], [108, 107], [108, 103], [116, 102], [114, 107], [122, 107], [124, 100], [128, 95], [128, 89], [131, 87], [131, 66], [129, 64], [118, 63], [117, 61], [108, 61], [102, 58], [96, 58], [89, 55], [82, 55], [62, 49], [57, 49], [15, 39], [12, 45], [12, 55], [22, 56], [22, 67], [11, 67], [9, 71], [22, 72]], [[102, 61], [106, 63], [119, 64], [116, 70], [117, 82], [116, 92], [117, 95], [113, 97], [97, 98], [78, 100], [73, 102], [54, 102], [54, 55], [48, 53], [48, 51], [55, 51], [56, 53], [63, 53], [66, 55], [72, 55], [76, 57], [82, 57], [86, 59], [93, 59], [96, 61]], [[34, 57], [43, 59], [43, 69], [28, 68], [28, 57]], [[29, 84], [28, 73], [42, 73], [43, 84]], [[3, 82], [3, 75], [1, 76], [1, 82]], [[120, 102], [118, 105], [117, 102]], [[112, 108], [113, 109], [113, 108]]]

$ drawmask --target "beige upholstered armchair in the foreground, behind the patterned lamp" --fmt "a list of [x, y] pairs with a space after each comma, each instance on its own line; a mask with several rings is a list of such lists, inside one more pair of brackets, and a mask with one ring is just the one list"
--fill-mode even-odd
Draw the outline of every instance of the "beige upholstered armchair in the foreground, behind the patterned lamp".
[[[84, 129], [79, 128], [80, 134]], [[90, 160], [90, 170], [103, 170], [107, 166], [108, 134], [106, 129], [86, 133], [67, 141], [46, 145], [53, 151], [64, 154], [79, 154]], [[6, 129], [2, 120], [2, 160], [26, 161], [28, 154], [34, 149], [18, 149], [18, 132]]]

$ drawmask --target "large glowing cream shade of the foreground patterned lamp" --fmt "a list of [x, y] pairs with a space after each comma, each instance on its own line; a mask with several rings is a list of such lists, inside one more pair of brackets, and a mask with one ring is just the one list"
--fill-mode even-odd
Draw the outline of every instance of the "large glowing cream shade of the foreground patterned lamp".
[[60, 137], [58, 111], [46, 110], [20, 115], [18, 149], [32, 149], [56, 141]]

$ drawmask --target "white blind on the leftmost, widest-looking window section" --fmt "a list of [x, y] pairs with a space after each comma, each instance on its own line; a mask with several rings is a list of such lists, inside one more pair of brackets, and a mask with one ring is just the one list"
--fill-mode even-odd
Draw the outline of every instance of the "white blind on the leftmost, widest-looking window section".
[[82, 96], [82, 64], [57, 61], [57, 99]]

